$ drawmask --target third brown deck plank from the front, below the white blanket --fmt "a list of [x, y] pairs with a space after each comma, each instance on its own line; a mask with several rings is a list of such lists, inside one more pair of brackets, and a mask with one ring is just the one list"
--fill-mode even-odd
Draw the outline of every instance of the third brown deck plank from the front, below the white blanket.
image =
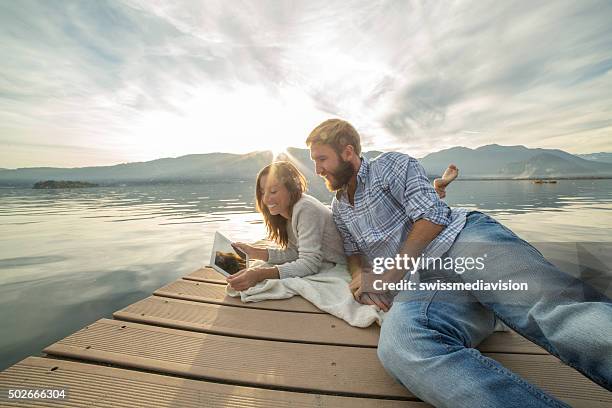
[[376, 347], [379, 327], [349, 326], [328, 314], [287, 313], [151, 296], [113, 314], [116, 319], [231, 336]]

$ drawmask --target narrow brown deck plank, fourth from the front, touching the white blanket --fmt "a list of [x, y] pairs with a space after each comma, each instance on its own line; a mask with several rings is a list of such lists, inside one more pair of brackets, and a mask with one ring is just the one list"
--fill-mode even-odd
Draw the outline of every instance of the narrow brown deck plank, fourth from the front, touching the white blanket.
[[179, 279], [153, 292], [156, 296], [195, 302], [214, 303], [253, 309], [284, 310], [302, 313], [325, 313], [300, 296], [290, 299], [266, 300], [263, 302], [243, 303], [239, 298], [225, 294], [225, 286], [214, 283], [194, 282]]

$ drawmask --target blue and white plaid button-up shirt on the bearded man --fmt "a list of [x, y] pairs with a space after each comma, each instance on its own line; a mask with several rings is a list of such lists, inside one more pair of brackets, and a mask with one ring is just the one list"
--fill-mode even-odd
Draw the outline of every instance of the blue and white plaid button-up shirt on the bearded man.
[[395, 257], [412, 224], [422, 218], [446, 226], [424, 253], [442, 257], [463, 229], [468, 212], [451, 209], [441, 201], [421, 164], [403, 153], [361, 159], [354, 203], [340, 190], [331, 205], [334, 221], [344, 240], [344, 252], [365, 255], [370, 262]]

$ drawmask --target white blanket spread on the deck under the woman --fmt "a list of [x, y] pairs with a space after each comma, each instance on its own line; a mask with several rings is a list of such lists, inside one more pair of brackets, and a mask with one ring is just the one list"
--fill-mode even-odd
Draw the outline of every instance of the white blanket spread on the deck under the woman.
[[300, 295], [351, 326], [368, 327], [374, 322], [382, 324], [385, 313], [377, 306], [356, 302], [348, 287], [350, 282], [351, 276], [346, 265], [336, 265], [332, 269], [303, 278], [267, 279], [242, 292], [227, 285], [226, 292], [232, 297], [240, 296], [243, 302], [287, 299]]

